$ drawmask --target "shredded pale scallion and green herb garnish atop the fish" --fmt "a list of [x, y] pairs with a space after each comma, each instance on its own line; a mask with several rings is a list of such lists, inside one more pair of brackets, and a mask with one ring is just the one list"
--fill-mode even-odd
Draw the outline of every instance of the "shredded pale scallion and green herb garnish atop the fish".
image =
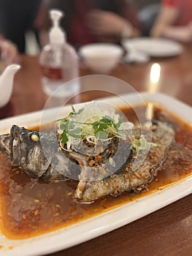
[[[128, 129], [130, 128], [122, 129], [123, 126], [121, 127], [121, 125], [124, 124], [123, 116], [115, 115], [115, 118], [112, 118], [104, 115], [99, 117], [95, 110], [96, 116], [88, 118], [86, 122], [81, 122], [78, 121], [80, 115], [87, 116], [87, 113], [83, 113], [83, 110], [84, 108], [76, 111], [72, 106], [72, 112], [69, 113], [69, 116], [56, 120], [60, 121], [60, 129], [62, 131], [60, 135], [61, 147], [67, 143], [67, 149], [69, 150], [73, 143], [77, 145], [82, 139], [95, 142], [96, 140], [107, 140], [112, 136], [116, 136], [126, 140]], [[147, 150], [150, 146], [157, 146], [157, 144], [147, 142], [144, 135], [141, 135], [139, 139], [132, 138], [131, 148], [134, 148], [137, 154], [140, 150]]]

